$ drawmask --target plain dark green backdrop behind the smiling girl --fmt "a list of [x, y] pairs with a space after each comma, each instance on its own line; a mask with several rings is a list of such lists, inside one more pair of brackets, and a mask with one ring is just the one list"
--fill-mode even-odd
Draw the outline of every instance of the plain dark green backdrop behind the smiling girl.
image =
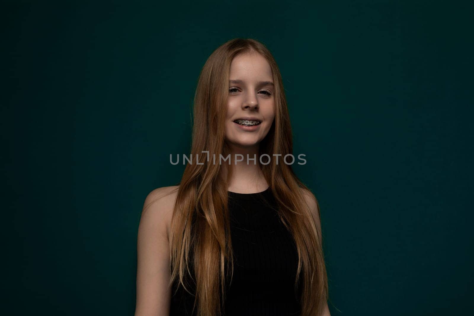
[[201, 67], [239, 36], [283, 75], [331, 314], [469, 315], [469, 2], [3, 2], [8, 315], [133, 314], [144, 199], [180, 181]]

